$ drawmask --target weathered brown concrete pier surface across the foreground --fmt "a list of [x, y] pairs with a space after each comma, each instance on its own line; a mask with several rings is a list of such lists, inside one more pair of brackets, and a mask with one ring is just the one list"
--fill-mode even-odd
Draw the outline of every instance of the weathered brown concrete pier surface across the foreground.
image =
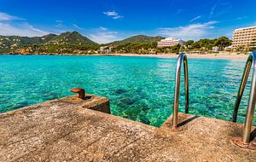
[[[100, 105], [108, 99], [100, 98], [100, 103], [91, 101], [91, 105], [103, 107]], [[83, 105], [89, 107], [86, 101], [69, 98], [1, 114], [0, 161], [256, 159], [255, 151], [238, 148], [230, 141], [232, 136], [241, 136], [240, 124], [191, 116], [183, 118], [189, 118], [183, 131], [172, 132], [168, 121], [163, 128], [155, 128]]]

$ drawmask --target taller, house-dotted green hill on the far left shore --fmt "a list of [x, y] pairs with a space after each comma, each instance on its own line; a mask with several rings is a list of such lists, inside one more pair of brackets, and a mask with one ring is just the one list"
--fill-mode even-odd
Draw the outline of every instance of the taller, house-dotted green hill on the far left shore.
[[79, 32], [48, 34], [43, 37], [0, 36], [0, 53], [40, 54], [84, 53], [99, 49], [99, 45]]

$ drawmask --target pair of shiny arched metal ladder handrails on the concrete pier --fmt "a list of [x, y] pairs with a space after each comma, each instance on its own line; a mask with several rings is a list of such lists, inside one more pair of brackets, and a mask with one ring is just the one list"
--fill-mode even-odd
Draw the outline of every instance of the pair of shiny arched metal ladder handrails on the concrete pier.
[[[175, 90], [174, 90], [174, 105], [172, 112], [172, 130], [179, 131], [180, 128], [177, 127], [177, 115], [178, 115], [178, 102], [179, 102], [179, 87], [180, 87], [180, 75], [181, 66], [183, 63], [184, 67], [184, 82], [185, 82], [185, 95], [186, 95], [186, 107], [185, 113], [189, 113], [189, 75], [188, 75], [188, 58], [186, 53], [180, 53], [177, 58], [176, 67], [176, 78], [175, 78]], [[252, 52], [247, 58], [247, 64], [243, 72], [241, 79], [240, 89], [236, 97], [236, 105], [233, 113], [233, 122], [236, 122], [237, 112], [239, 105], [241, 103], [241, 96], [245, 89], [247, 78], [250, 73], [251, 67], [253, 66], [253, 80], [251, 85], [250, 98], [247, 105], [247, 116], [244, 124], [242, 138], [234, 138], [233, 142], [236, 143], [241, 148], [251, 148], [256, 149], [256, 137], [250, 142], [250, 134], [253, 126], [253, 114], [256, 102], [256, 51]]]

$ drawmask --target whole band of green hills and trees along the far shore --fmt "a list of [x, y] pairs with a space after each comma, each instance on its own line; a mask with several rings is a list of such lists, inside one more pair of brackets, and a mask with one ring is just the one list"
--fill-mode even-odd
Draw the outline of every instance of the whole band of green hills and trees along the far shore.
[[[197, 51], [201, 53], [224, 50], [231, 45], [226, 37], [202, 38], [198, 41], [188, 40], [184, 45], [158, 48], [157, 42], [162, 37], [148, 37], [143, 35], [126, 38], [108, 44], [97, 44], [79, 34], [79, 32], [64, 32], [60, 35], [48, 34], [43, 37], [0, 36], [0, 53], [2, 54], [98, 54], [101, 47], [107, 46], [111, 53], [118, 54], [169, 54], [180, 51]], [[255, 41], [256, 42], [256, 41]], [[255, 49], [255, 48], [254, 48]], [[248, 51], [247, 47], [237, 50]], [[105, 52], [105, 50], [103, 51]]]

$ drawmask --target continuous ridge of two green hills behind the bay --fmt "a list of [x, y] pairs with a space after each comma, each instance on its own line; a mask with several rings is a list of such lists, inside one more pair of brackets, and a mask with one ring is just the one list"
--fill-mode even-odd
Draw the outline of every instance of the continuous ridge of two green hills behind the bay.
[[123, 45], [127, 43], [155, 43], [160, 41], [163, 37], [160, 36], [146, 36], [146, 35], [137, 35], [132, 36], [130, 38], [125, 38], [120, 41], [114, 41], [112, 43], [95, 43], [90, 38], [87, 38], [81, 35], [79, 32], [62, 32], [61, 34], [53, 34], [49, 33], [42, 37], [20, 37], [20, 36], [1, 36], [0, 35], [0, 53], [15, 53], [22, 49], [26, 49], [26, 51], [37, 50], [38, 47], [40, 49], [55, 49], [61, 48], [65, 49], [95, 49], [96, 47], [102, 45]]

